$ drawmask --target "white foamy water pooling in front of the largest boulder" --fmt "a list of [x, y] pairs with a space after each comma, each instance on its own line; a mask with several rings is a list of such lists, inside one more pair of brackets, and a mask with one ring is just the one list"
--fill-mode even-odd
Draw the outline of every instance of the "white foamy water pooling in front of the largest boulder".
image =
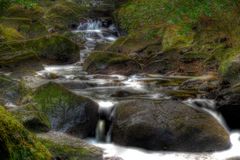
[[104, 149], [104, 158], [120, 157], [124, 160], [226, 160], [240, 156], [240, 134], [231, 134], [232, 147], [215, 153], [150, 152], [138, 148], [122, 147], [114, 144], [90, 143]]

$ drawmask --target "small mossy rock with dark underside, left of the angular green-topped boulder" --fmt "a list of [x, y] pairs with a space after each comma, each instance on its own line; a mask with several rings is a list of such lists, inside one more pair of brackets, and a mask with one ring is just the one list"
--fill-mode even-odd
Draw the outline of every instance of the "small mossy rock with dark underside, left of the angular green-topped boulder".
[[17, 119], [33, 132], [47, 132], [50, 130], [50, 121], [47, 115], [38, 109], [33, 104], [28, 104], [11, 111]]

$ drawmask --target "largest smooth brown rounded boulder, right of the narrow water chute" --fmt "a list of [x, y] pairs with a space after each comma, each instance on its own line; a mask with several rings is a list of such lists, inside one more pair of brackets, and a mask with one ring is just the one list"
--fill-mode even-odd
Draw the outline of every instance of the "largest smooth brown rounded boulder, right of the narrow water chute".
[[185, 152], [230, 146], [228, 132], [216, 119], [181, 102], [135, 100], [116, 107], [112, 140], [117, 144]]

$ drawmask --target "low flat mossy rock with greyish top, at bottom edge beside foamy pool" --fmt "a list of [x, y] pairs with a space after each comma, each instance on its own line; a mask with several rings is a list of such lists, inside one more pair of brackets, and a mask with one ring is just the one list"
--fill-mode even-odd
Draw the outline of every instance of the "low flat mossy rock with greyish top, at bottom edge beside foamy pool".
[[79, 138], [54, 132], [39, 134], [38, 137], [56, 158], [68, 160], [102, 160], [101, 149], [87, 144]]

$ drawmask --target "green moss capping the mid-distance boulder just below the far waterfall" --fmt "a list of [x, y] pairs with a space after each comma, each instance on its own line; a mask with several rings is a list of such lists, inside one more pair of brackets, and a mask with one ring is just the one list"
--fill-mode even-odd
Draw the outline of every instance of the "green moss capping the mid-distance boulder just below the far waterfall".
[[92, 65], [96, 66], [96, 68], [102, 68], [103, 66], [120, 64], [128, 61], [133, 60], [127, 55], [121, 55], [111, 52], [95, 52], [92, 53], [84, 63], [84, 69], [87, 70]]

